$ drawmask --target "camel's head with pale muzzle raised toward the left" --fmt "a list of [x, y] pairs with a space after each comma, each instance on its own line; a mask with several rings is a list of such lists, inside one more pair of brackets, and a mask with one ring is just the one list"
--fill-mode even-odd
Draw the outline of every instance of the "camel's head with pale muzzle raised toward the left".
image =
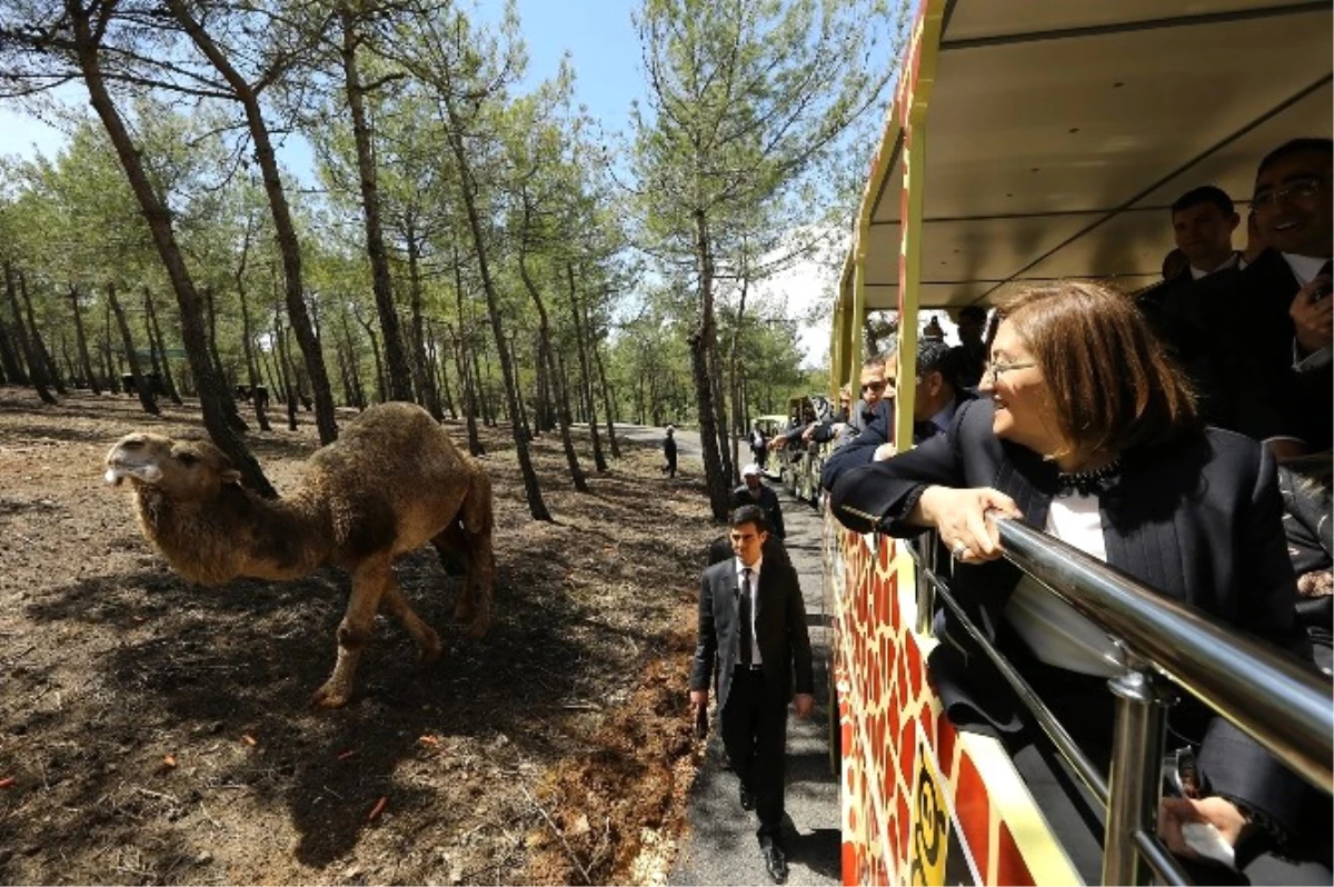
[[240, 472], [221, 450], [207, 440], [172, 440], [136, 432], [121, 437], [107, 454], [107, 483], [129, 478], [136, 491], [153, 487], [176, 502], [212, 499], [224, 484], [240, 483]]

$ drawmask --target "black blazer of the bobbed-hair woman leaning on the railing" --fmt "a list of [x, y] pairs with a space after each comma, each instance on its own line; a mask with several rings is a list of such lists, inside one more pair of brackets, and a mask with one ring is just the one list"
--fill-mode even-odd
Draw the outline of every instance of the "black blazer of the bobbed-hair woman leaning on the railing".
[[[920, 527], [904, 523], [927, 484], [994, 487], [1011, 496], [1026, 523], [1045, 527], [1057, 468], [991, 432], [995, 408], [974, 400], [955, 413], [950, 432], [887, 462], [848, 472], [834, 487], [834, 515], [868, 532], [878, 524], [895, 536]], [[1162, 594], [1205, 610], [1278, 646], [1307, 651], [1294, 626], [1297, 586], [1282, 528], [1282, 500], [1269, 451], [1254, 440], [1207, 429], [1171, 446], [1126, 452], [1115, 484], [1099, 498], [1107, 563]], [[874, 519], [867, 519], [871, 515]], [[972, 622], [995, 639], [1010, 594], [1021, 578], [1005, 560], [960, 564], [955, 596]], [[952, 616], [952, 615], [950, 615]], [[944, 619], [946, 644], [967, 650], [967, 635]], [[974, 663], [982, 662], [972, 656]], [[951, 718], [968, 712], [1002, 730], [1013, 712], [988, 711], [967, 670], [932, 680]], [[1057, 712], [1058, 716], [1061, 712]], [[1215, 718], [1199, 758], [1217, 794], [1241, 799], [1287, 824], [1303, 784], [1258, 744]]]

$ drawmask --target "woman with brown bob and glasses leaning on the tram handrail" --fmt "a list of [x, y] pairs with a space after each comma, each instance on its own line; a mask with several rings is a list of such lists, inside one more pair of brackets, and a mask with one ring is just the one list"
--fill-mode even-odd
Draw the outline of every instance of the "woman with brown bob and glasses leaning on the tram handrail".
[[[1106, 678], [1123, 668], [1121, 650], [999, 560], [987, 512], [1021, 518], [1301, 654], [1307, 646], [1293, 619], [1275, 464], [1257, 441], [1202, 427], [1179, 371], [1119, 293], [1062, 283], [1027, 289], [998, 311], [983, 397], [962, 404], [948, 432], [847, 472], [834, 486], [832, 512], [860, 532], [938, 530], [971, 620], [1105, 762], [1113, 739]], [[1035, 742], [1027, 712], [952, 612], [940, 616], [943, 643], [928, 663], [951, 720], [998, 732], [1018, 758]], [[1282, 843], [1305, 784], [1222, 718], [1183, 702], [1171, 720], [1201, 742], [1203, 787], [1197, 799], [1165, 803], [1171, 850], [1193, 855], [1181, 839], [1183, 819], [1213, 823], [1243, 862]]]

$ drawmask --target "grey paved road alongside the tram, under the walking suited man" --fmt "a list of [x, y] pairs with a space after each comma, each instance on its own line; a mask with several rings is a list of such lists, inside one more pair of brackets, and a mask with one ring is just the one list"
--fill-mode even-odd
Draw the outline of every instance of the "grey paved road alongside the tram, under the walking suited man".
[[[810, 720], [798, 720], [788, 708], [787, 815], [791, 822], [784, 828], [791, 875], [787, 883], [828, 886], [839, 883], [839, 788], [830, 772], [826, 735], [832, 636], [824, 628], [828, 620], [820, 604], [820, 518], [808, 504], [778, 490], [787, 550], [802, 579], [815, 654], [815, 714]], [[771, 883], [755, 840], [756, 824], [755, 815], [744, 812], [738, 803], [736, 776], [727, 770], [715, 731], [691, 794], [687, 834], [667, 883], [674, 887]]]

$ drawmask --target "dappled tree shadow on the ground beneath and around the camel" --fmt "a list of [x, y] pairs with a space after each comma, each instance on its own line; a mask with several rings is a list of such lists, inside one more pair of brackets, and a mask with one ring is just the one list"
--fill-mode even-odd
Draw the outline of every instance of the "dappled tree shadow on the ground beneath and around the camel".
[[[427, 559], [434, 560], [428, 554], [410, 558], [414, 570], [406, 572], [428, 572], [418, 563]], [[41, 594], [27, 607], [35, 623], [109, 623], [123, 638], [97, 663], [115, 706], [16, 712], [9, 726], [89, 739], [79, 760], [47, 768], [48, 782], [65, 771], [84, 774], [65, 808], [85, 811], [64, 835], [43, 836], [48, 850], [59, 850], [51, 842], [85, 844], [88, 830], [116, 828], [116, 811], [104, 803], [124, 780], [115, 762], [143, 746], [145, 727], [167, 738], [163, 747], [180, 748], [181, 758], [196, 750], [193, 758], [207, 762], [207, 778], [179, 796], [144, 794], [139, 800], [145, 807], [184, 807], [229, 791], [251, 794], [261, 806], [285, 806], [299, 834], [296, 858], [313, 867], [347, 855], [374, 827], [368, 812], [379, 798], [451, 818], [451, 804], [430, 803], [440, 795], [436, 786], [403, 779], [406, 763], [444, 756], [466, 740], [512, 743], [515, 754], [546, 758], [542, 736], [530, 730], [532, 712], [582, 699], [580, 672], [594, 651], [582, 643], [588, 632], [575, 630], [580, 612], [559, 594], [536, 592], [502, 568], [495, 624], [486, 638], [472, 639], [451, 618], [460, 582], [446, 582], [436, 564], [430, 567], [434, 587], [414, 576], [404, 591], [440, 632], [446, 656], [415, 664], [407, 634], [378, 619], [356, 694], [340, 711], [308, 707], [334, 663], [348, 592], [338, 571], [219, 590], [145, 571]], [[440, 747], [427, 744], [432, 742]]]

